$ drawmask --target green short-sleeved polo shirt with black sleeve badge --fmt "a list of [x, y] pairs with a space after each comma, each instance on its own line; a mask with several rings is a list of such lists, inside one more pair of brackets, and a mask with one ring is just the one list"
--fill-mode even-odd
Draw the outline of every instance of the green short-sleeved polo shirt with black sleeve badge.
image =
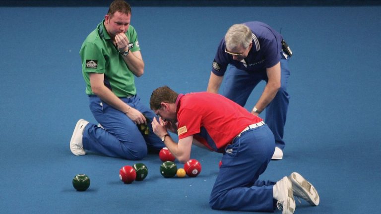
[[[82, 60], [82, 75], [86, 82], [86, 94], [94, 95], [91, 90], [89, 73], [103, 73], [104, 84], [117, 97], [136, 95], [133, 73], [114, 46], [103, 20], [97, 28], [91, 32], [83, 42], [79, 55]], [[126, 32], [130, 42], [130, 52], [139, 51], [137, 34], [132, 26]]]

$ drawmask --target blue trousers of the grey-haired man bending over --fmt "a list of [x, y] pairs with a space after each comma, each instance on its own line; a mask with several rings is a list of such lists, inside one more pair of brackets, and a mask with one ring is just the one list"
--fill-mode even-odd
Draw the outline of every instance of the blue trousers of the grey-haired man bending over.
[[[286, 90], [288, 77], [290, 76], [288, 60], [289, 58], [286, 59], [284, 56], [280, 60], [281, 87], [271, 103], [266, 107], [265, 117], [266, 124], [274, 133], [276, 147], [281, 150], [285, 146], [283, 133], [290, 99]], [[244, 107], [255, 86], [262, 80], [268, 82], [266, 70], [249, 73], [230, 65], [229, 70], [225, 73], [222, 95]]]

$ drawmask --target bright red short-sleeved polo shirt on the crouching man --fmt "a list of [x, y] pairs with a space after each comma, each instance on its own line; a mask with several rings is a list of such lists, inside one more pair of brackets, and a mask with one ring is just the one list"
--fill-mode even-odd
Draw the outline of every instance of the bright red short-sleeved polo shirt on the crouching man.
[[[206, 147], [218, 152], [248, 125], [262, 121], [222, 95], [208, 92], [180, 94], [176, 105], [179, 139], [194, 135]], [[207, 142], [196, 135], [202, 127], [212, 141]]]

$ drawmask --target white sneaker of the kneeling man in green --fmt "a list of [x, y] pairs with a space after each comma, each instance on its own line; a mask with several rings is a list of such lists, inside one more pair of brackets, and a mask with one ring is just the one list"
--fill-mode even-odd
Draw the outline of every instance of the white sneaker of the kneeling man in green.
[[75, 125], [73, 135], [71, 136], [71, 139], [70, 139], [70, 151], [72, 154], [76, 156], [81, 156], [86, 154], [82, 145], [82, 136], [83, 136], [83, 130], [85, 129], [85, 126], [88, 123], [89, 123], [88, 121], [84, 119], [80, 119]]

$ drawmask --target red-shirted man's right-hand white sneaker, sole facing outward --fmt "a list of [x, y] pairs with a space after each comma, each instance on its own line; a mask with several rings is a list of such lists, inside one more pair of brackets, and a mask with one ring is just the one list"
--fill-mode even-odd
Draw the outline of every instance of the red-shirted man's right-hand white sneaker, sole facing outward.
[[296, 197], [306, 200], [313, 206], [319, 205], [320, 198], [318, 191], [308, 180], [297, 172], [291, 173], [288, 178], [292, 183], [293, 193]]

